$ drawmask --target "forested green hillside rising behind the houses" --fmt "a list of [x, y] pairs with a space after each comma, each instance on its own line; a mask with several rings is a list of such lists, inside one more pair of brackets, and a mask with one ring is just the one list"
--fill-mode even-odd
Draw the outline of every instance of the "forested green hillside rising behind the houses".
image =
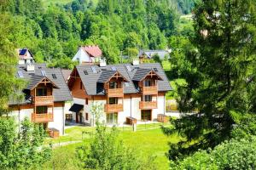
[[98, 44], [108, 63], [118, 63], [121, 53], [136, 56], [139, 48], [170, 48], [179, 16], [194, 5], [191, 0], [58, 2], [11, 0], [3, 10], [17, 26], [10, 36], [17, 48], [30, 48], [38, 62], [66, 68], [79, 45]]

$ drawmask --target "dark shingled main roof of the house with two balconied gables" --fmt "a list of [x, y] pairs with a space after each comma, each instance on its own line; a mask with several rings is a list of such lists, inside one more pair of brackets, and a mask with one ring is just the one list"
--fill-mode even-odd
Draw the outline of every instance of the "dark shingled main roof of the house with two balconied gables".
[[[131, 71], [128, 71], [125, 65], [129, 65]], [[79, 76], [84, 84], [84, 88], [88, 95], [104, 95], [104, 90], [102, 88], [102, 83], [98, 83], [99, 78], [102, 76], [103, 71], [112, 71], [114, 66], [116, 70], [128, 81], [128, 86], [124, 86], [124, 94], [136, 94], [139, 89], [136, 87], [135, 83], [132, 81], [132, 78], [135, 76], [138, 69], [146, 69], [148, 71], [157, 70], [157, 75], [162, 78], [158, 81], [158, 90], [159, 92], [166, 92], [172, 90], [170, 83], [166, 77], [165, 71], [163, 71], [159, 63], [148, 63], [141, 65], [131, 65], [131, 64], [119, 64], [119, 65], [107, 65], [105, 67], [100, 67], [94, 65], [96, 68], [96, 73], [91, 71], [90, 65], [77, 65], [76, 68], [79, 72]], [[87, 71], [87, 75], [84, 74], [84, 71]], [[155, 72], [155, 71], [154, 71]]]

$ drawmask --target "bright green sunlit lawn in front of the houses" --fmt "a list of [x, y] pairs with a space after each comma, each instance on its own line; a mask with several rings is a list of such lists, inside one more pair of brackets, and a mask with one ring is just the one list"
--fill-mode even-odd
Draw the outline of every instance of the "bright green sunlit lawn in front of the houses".
[[[177, 135], [167, 137], [158, 128], [158, 124], [138, 125], [137, 132], [131, 131], [131, 127], [119, 127], [119, 139], [123, 140], [125, 144], [131, 146], [138, 156], [148, 158], [148, 156], [155, 156], [155, 164], [158, 169], [168, 169], [169, 164], [165, 156], [168, 151], [168, 142], [177, 143], [179, 138]], [[165, 126], [170, 126], [166, 124]], [[66, 136], [60, 139], [50, 139], [54, 143], [65, 142], [69, 140], [81, 140], [82, 132], [89, 132], [84, 134], [83, 142], [77, 144], [68, 144], [66, 146], [57, 147], [53, 150], [53, 158], [46, 162], [44, 169], [79, 169], [76, 167], [75, 149], [81, 144], [89, 144], [94, 131], [94, 127], [72, 127], [66, 130]], [[49, 142], [49, 141], [48, 141]]]

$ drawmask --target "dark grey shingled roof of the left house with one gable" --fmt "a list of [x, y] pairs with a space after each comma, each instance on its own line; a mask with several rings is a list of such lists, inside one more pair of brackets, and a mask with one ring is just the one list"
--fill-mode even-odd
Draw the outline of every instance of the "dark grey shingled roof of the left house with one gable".
[[[20, 78], [28, 82], [27, 88], [32, 87], [33, 84], [37, 82], [38, 79], [40, 79], [40, 77], [43, 77], [41, 71], [45, 71], [46, 77], [49, 79], [49, 81], [53, 82], [55, 86], [58, 87], [58, 88], [53, 88], [54, 101], [58, 102], [58, 101], [72, 100], [69, 88], [67, 87], [67, 83], [65, 82], [62, 76], [61, 69], [47, 68], [45, 64], [34, 64], [34, 66], [35, 66], [35, 71], [26, 71], [26, 65], [17, 66], [16, 76], [19, 77], [18, 71], [22, 71], [23, 77], [20, 77]], [[56, 79], [52, 77], [53, 74], [55, 74]], [[27, 100], [22, 101], [20, 104], [26, 104], [27, 102], [28, 102]], [[16, 101], [12, 101], [12, 99], [10, 99], [9, 105], [16, 105], [16, 104], [18, 104]]]

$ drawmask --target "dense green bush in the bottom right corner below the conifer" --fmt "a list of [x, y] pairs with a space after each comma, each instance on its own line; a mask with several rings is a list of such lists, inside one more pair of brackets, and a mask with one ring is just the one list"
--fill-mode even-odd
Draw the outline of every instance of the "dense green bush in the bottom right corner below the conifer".
[[231, 139], [214, 150], [201, 150], [182, 161], [171, 161], [172, 169], [255, 169], [256, 136]]

